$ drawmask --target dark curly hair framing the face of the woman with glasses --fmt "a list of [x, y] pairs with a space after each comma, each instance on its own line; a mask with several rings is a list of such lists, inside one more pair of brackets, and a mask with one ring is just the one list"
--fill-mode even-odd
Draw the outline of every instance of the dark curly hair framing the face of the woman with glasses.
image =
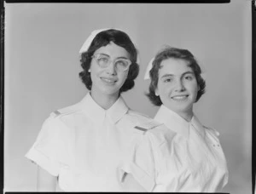
[[130, 54], [131, 66], [129, 67], [128, 76], [125, 83], [119, 90], [119, 94], [134, 87], [134, 80], [138, 75], [139, 66], [137, 64], [137, 48], [131, 42], [130, 37], [124, 32], [115, 29], [109, 29], [99, 32], [93, 39], [87, 52], [81, 54], [81, 66], [83, 71], [79, 72], [79, 77], [85, 84], [86, 88], [91, 89], [90, 61], [91, 56], [95, 53], [96, 49], [107, 46], [110, 42], [117, 44], [119, 47], [125, 48]]

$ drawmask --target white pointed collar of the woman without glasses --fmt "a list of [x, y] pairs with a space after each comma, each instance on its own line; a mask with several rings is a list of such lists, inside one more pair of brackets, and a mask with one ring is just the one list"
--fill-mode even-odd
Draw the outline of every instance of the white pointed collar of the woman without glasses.
[[172, 129], [177, 134], [182, 134], [184, 137], [189, 138], [189, 125], [191, 124], [201, 134], [205, 136], [205, 129], [201, 125], [198, 118], [192, 117], [190, 122], [187, 122], [183, 117], [180, 117], [175, 111], [168, 109], [166, 106], [161, 105], [159, 111], [154, 116], [154, 119], [160, 123], [166, 124], [167, 128]]

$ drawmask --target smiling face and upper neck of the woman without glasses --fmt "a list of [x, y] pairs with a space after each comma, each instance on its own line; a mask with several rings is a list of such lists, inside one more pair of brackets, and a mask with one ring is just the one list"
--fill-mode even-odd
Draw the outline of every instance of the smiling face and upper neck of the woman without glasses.
[[163, 105], [189, 120], [199, 90], [194, 71], [186, 60], [169, 58], [160, 64], [156, 94]]

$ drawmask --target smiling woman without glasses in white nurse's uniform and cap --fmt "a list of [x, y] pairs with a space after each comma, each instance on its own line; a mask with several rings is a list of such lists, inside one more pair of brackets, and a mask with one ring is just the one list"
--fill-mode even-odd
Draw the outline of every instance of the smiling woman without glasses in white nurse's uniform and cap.
[[228, 170], [218, 131], [203, 126], [193, 111], [206, 87], [200, 66], [189, 50], [171, 47], [151, 61], [145, 75], [151, 79], [147, 95], [160, 106], [154, 120], [166, 128], [141, 136], [126, 168], [137, 166], [129, 173], [141, 185], [142, 172], [152, 180], [154, 186], [146, 191], [221, 191]]

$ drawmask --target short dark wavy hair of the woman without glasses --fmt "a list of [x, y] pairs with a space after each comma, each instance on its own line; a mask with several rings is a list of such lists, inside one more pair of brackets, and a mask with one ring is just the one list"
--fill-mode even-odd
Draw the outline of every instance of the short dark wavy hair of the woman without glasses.
[[149, 85], [149, 92], [146, 94], [148, 99], [155, 105], [162, 105], [162, 101], [160, 100], [160, 96], [155, 95], [155, 88], [157, 88], [158, 78], [159, 78], [159, 70], [162, 66], [161, 62], [163, 60], [167, 60], [169, 58], [178, 59], [178, 60], [186, 60], [188, 62], [189, 67], [194, 71], [196, 82], [198, 83], [200, 90], [197, 92], [197, 97], [195, 102], [197, 102], [201, 95], [205, 93], [206, 82], [201, 77], [201, 67], [198, 65], [197, 61], [193, 54], [189, 52], [187, 49], [182, 48], [172, 48], [167, 46], [166, 48], [160, 50], [158, 54], [154, 57], [153, 67], [149, 71], [149, 76], [151, 79], [151, 83]]

